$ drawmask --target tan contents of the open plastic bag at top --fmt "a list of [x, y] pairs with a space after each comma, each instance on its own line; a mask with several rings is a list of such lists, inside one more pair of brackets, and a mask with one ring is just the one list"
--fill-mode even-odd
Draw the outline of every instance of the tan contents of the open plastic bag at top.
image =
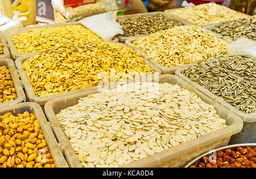
[[82, 5], [76, 8], [73, 7], [67, 7], [66, 10], [66, 18], [68, 20], [80, 20], [82, 18], [85, 18], [86, 16], [97, 14], [103, 11], [108, 10], [108, 7], [105, 6], [101, 2], [96, 3], [90, 3], [88, 5]]

